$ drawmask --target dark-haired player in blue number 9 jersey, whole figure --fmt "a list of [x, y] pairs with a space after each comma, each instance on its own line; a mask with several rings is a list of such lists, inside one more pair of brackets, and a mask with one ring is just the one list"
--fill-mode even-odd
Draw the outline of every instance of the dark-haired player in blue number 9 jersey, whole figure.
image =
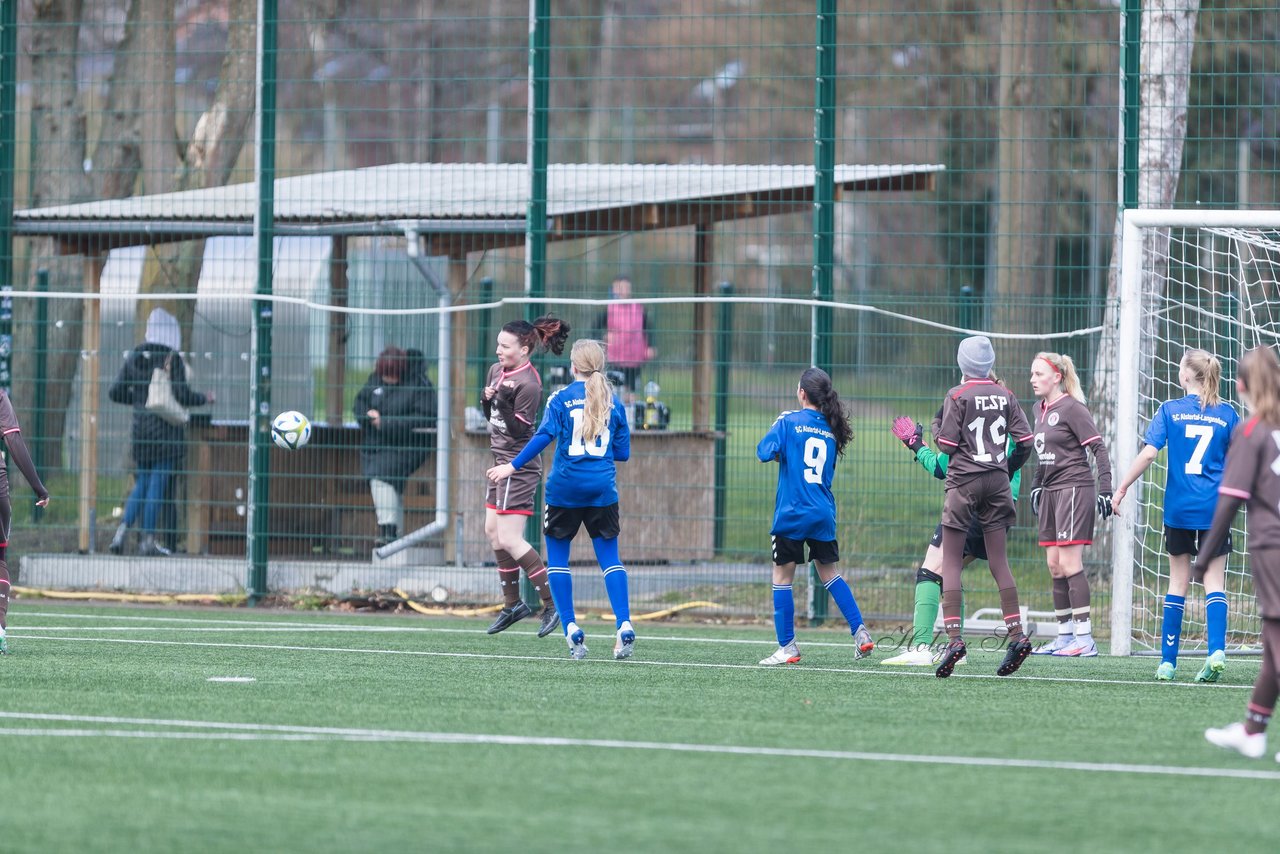
[[836, 497], [831, 492], [831, 476], [836, 457], [844, 456], [854, 431], [827, 371], [810, 367], [801, 374], [796, 399], [803, 408], [780, 415], [755, 448], [760, 462], [778, 462], [778, 492], [769, 530], [773, 539], [773, 629], [778, 649], [760, 662], [767, 666], [800, 661], [791, 583], [796, 563], [805, 561], [805, 545], [809, 560], [818, 565], [823, 586], [849, 621], [854, 658], [864, 658], [876, 648], [863, 625], [854, 592], [836, 568], [840, 543], [836, 540]]

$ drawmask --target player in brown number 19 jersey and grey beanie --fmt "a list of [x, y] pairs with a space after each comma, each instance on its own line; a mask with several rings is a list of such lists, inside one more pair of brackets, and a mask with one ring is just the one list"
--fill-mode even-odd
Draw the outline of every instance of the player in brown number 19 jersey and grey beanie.
[[[951, 640], [934, 671], [940, 679], [950, 676], [966, 652], [961, 639], [960, 570], [974, 517], [982, 526], [987, 565], [1000, 589], [1000, 611], [1009, 630], [1009, 648], [996, 673], [1015, 672], [1032, 650], [1006, 553], [1009, 528], [1016, 517], [1009, 478], [1030, 456], [1032, 430], [1014, 393], [991, 380], [995, 361], [996, 352], [984, 335], [960, 342], [956, 362], [964, 382], [947, 392], [934, 437], [950, 455], [942, 506], [942, 624]], [[1015, 443], [1012, 453], [1007, 451], [1010, 438]]]

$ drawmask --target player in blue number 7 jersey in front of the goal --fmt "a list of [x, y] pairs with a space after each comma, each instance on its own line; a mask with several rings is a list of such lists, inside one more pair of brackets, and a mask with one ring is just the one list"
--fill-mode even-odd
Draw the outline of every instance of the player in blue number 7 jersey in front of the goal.
[[[1160, 667], [1156, 679], [1171, 681], [1178, 667], [1178, 647], [1183, 636], [1183, 609], [1190, 581], [1192, 558], [1199, 553], [1217, 506], [1217, 488], [1226, 469], [1226, 449], [1240, 416], [1219, 394], [1222, 366], [1203, 350], [1189, 350], [1178, 366], [1178, 382], [1185, 397], [1160, 405], [1143, 437], [1146, 447], [1133, 461], [1114, 503], [1124, 501], [1156, 455], [1169, 446], [1169, 472], [1165, 480], [1165, 551], [1169, 553], [1169, 592], [1165, 594], [1164, 625], [1160, 632]], [[1231, 552], [1228, 534], [1215, 554], [1207, 556], [1204, 585], [1204, 624], [1208, 658], [1198, 682], [1216, 682], [1226, 667], [1226, 556]]]

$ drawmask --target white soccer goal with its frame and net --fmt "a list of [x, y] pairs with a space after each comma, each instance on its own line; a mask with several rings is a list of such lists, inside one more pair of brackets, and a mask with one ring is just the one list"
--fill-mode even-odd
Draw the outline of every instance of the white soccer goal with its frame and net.
[[[1236, 398], [1244, 351], [1280, 343], [1280, 211], [1130, 210], [1124, 215], [1116, 348], [1117, 471], [1140, 448], [1161, 402], [1183, 394], [1189, 348], [1222, 362], [1222, 397]], [[1242, 408], [1242, 415], [1243, 415]], [[1134, 484], [1112, 538], [1112, 654], [1158, 653], [1169, 584], [1164, 547], [1165, 455]], [[1260, 622], [1243, 528], [1228, 560], [1228, 652], [1260, 652]], [[1204, 645], [1204, 598], [1187, 599], [1183, 649]]]

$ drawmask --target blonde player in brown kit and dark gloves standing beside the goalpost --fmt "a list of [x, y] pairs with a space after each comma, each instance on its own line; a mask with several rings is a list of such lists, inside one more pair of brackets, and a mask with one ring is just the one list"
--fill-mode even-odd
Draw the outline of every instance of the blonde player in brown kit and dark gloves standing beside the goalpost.
[[[1036, 650], [1038, 656], [1091, 658], [1098, 654], [1089, 622], [1089, 576], [1084, 547], [1093, 543], [1094, 511], [1111, 516], [1111, 458], [1102, 434], [1084, 406], [1084, 393], [1070, 356], [1038, 353], [1032, 361], [1036, 416], [1036, 478], [1032, 511], [1039, 517], [1053, 579], [1057, 638]], [[1089, 453], [1098, 467], [1097, 488]]]

